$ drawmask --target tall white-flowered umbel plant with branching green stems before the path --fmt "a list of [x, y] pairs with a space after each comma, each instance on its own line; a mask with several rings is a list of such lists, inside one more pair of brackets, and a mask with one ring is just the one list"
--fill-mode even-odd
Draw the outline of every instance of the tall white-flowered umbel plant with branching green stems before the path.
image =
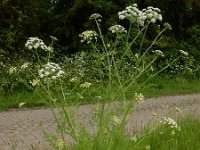
[[[144, 74], [149, 73], [149, 69], [155, 60], [158, 57], [164, 56], [161, 50], [154, 50], [152, 47], [161, 34], [170, 28], [168, 24], [165, 24], [165, 28], [158, 33], [152, 43], [148, 47], [145, 46], [147, 47], [145, 50], [142, 50], [144, 37], [149, 25], [157, 21], [162, 21], [160, 9], [147, 7], [146, 9], [139, 10], [137, 5], [133, 4], [126, 7], [125, 10], [120, 11], [118, 15], [120, 20], [127, 19], [130, 25], [128, 30], [121, 25], [111, 26], [108, 31], [112, 33], [115, 40], [110, 39], [105, 41], [100, 28], [102, 16], [98, 13], [92, 14], [89, 18], [91, 21], [95, 21], [97, 31], [87, 30], [79, 35], [81, 43], [87, 43], [88, 47], [91, 46], [96, 58], [93, 62], [96, 63], [98, 60], [98, 67], [95, 69], [97, 72], [102, 73], [101, 76], [97, 75], [99, 82], [94, 84], [89, 81], [79, 82], [76, 76], [72, 76], [71, 79], [69, 79], [69, 83], [76, 83], [75, 86], [66, 89], [64, 87], [65, 84], [57, 84], [57, 86], [61, 86], [58, 88], [61, 89], [61, 95], [63, 97], [63, 102], [61, 101], [59, 107], [60, 114], [62, 114], [63, 117], [62, 121], [59, 121], [54, 109], [52, 109], [60, 131], [60, 137], [57, 139], [61, 139], [63, 143], [66, 141], [65, 134], [67, 134], [71, 136], [73, 141], [71, 145], [68, 142], [62, 144], [64, 146], [63, 149], [82, 148], [93, 150], [97, 147], [100, 147], [100, 149], [123, 149], [124, 146], [128, 147], [130, 138], [127, 136], [125, 130], [127, 117], [133, 111], [135, 102], [140, 102], [144, 99], [143, 94], [139, 93], [136, 87], [138, 87], [138, 84], [144, 85], [151, 77], [156, 76], [159, 72], [168, 67], [164, 67], [147, 79], [142, 78]], [[137, 30], [137, 34], [132, 36], [132, 30]], [[142, 40], [138, 51], [134, 47], [134, 43], [140, 39], [139, 37], [142, 37]], [[37, 38], [36, 42], [35, 39], [31, 39], [28, 43], [29, 44], [26, 45], [31, 49], [44, 48], [44, 46], [41, 46], [42, 41]], [[48, 48], [45, 48], [46, 49], [43, 50], [48, 51]], [[41, 66], [38, 72], [39, 79], [49, 78], [47, 82], [60, 78], [65, 72], [58, 64], [50, 62], [50, 52], [52, 52], [52, 48], [48, 51], [47, 62], [45, 64], [40, 62]], [[147, 56], [147, 54], [150, 55], [149, 52], [154, 52], [151, 57], [152, 59]], [[131, 68], [128, 68], [130, 69], [128, 73], [124, 71], [124, 64], [126, 63], [131, 64]], [[139, 79], [143, 79], [143, 82], [138, 82]], [[48, 84], [46, 85], [48, 86]], [[43, 89], [46, 85], [42, 84]], [[102, 86], [101, 90], [96, 90], [95, 88], [99, 86]], [[50, 90], [51, 87], [46, 87], [44, 91], [47, 92], [46, 95], [49, 96], [53, 104], [56, 104], [56, 97], [49, 93]], [[134, 93], [132, 95], [132, 100], [128, 100], [127, 93], [129, 92]], [[90, 97], [93, 101], [98, 102], [97, 105], [94, 106], [97, 107], [95, 112], [91, 114], [92, 119], [89, 125], [92, 129], [89, 130], [84, 124], [78, 123], [75, 117], [75, 110], [67, 107], [67, 103], [65, 102], [70, 101], [71, 93], [75, 93], [75, 100], [73, 99], [75, 102], [78, 99], [84, 99], [85, 95]], [[100, 98], [97, 100], [97, 97]], [[112, 103], [115, 100], [119, 102], [116, 105]], [[112, 126], [113, 122], [114, 126]], [[55, 141], [50, 142], [55, 143]]]

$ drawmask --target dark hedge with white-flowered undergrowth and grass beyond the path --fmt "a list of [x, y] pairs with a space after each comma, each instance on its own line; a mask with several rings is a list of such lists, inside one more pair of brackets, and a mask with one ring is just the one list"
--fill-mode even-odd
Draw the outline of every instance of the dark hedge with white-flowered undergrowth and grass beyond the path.
[[[89, 56], [88, 53], [83, 56], [81, 53], [73, 54], [91, 50], [89, 46], [81, 45], [79, 38], [79, 34], [83, 31], [96, 29], [95, 23], [88, 19], [89, 16], [95, 12], [103, 16], [101, 29], [105, 39], [108, 39], [110, 35], [107, 34], [107, 29], [113, 24], [119, 23], [128, 28], [128, 22], [118, 21], [117, 12], [132, 3], [137, 3], [140, 9], [147, 6], [160, 8], [164, 19], [159, 23], [160, 28], [163, 28], [165, 22], [169, 22], [173, 28], [173, 30], [165, 32], [152, 47], [154, 50], [162, 50], [166, 57], [158, 58], [151, 68], [152, 72], [149, 72], [155, 73], [166, 66], [168, 62], [177, 58], [179, 49], [189, 52], [189, 57], [180, 59], [173, 66], [169, 66], [159, 74], [159, 79], [153, 79], [148, 82], [147, 87], [141, 88], [141, 92], [145, 96], [199, 92], [199, 0], [2, 0], [0, 2], [0, 93], [5, 94], [0, 97], [1, 101], [4, 101], [1, 103], [2, 108], [16, 107], [19, 102], [27, 102], [26, 99], [29, 106], [43, 105], [40, 100], [35, 101], [39, 98], [35, 97], [34, 99], [32, 90], [27, 89], [23, 84], [23, 80], [29, 82], [33, 78], [27, 76], [29, 73], [27, 70], [12, 75], [8, 73], [12, 66], [21, 66], [24, 62], [37, 61], [31, 51], [25, 50], [24, 43], [28, 37], [39, 37], [45, 43], [50, 43], [49, 35], [57, 37], [58, 42], [54, 45], [54, 54], [51, 59], [55, 62], [64, 62], [65, 70], [71, 75], [78, 76], [79, 72], [84, 72], [83, 69], [86, 68], [86, 71], [89, 71], [84, 77], [84, 81], [88, 81], [93, 75], [91, 68], [98, 68], [98, 64], [95, 66], [94, 61], [91, 61], [98, 60], [97, 56]], [[144, 45], [149, 45], [159, 32], [158, 26], [151, 25], [147, 31]], [[139, 42], [134, 46], [137, 49]], [[144, 46], [144, 48], [146, 47]], [[72, 59], [73, 63], [63, 61], [65, 56], [72, 56], [69, 62]], [[151, 59], [150, 56], [149, 58]], [[83, 63], [83, 61], [86, 62]], [[129, 67], [127, 66], [127, 68]], [[188, 68], [192, 69], [192, 73]], [[33, 73], [36, 73], [34, 67], [31, 69]], [[149, 75], [146, 76], [149, 77]], [[123, 76], [126, 76], [126, 73]], [[141, 80], [146, 76], [142, 76]], [[68, 80], [66, 79], [66, 81]], [[25, 93], [19, 94], [19, 98], [16, 98], [16, 91], [25, 91]], [[15, 98], [12, 97], [13, 92]], [[8, 99], [7, 94], [11, 95], [12, 100], [5, 100]], [[31, 98], [30, 95], [33, 97]]]

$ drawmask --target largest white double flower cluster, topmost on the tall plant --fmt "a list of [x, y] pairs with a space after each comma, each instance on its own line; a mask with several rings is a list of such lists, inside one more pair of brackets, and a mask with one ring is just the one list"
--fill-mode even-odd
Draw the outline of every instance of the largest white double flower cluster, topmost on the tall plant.
[[152, 6], [139, 10], [137, 4], [126, 7], [125, 10], [118, 13], [119, 19], [128, 19], [131, 22], [137, 22], [140, 26], [144, 26], [145, 22], [155, 23], [157, 20], [162, 21], [162, 15], [159, 8]]

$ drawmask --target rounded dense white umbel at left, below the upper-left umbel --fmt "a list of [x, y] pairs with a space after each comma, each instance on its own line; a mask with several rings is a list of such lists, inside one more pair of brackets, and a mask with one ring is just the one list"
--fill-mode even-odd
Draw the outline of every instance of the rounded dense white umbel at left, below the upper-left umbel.
[[64, 75], [64, 71], [61, 67], [53, 62], [43, 65], [42, 69], [40, 69], [38, 73], [40, 78], [51, 80], [57, 80]]

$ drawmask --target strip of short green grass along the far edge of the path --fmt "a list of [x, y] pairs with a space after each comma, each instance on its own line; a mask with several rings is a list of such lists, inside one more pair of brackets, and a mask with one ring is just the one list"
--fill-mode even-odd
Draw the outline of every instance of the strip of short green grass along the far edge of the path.
[[[127, 93], [128, 99], [134, 97], [135, 90], [142, 92], [146, 98], [165, 95], [193, 94], [200, 93], [200, 79], [155, 78], [144, 87], [136, 88], [137, 89], [133, 89], [133, 91]], [[97, 87], [96, 90], [101, 90], [101, 88]], [[58, 101], [62, 100], [62, 95], [60, 93], [54, 93], [54, 95], [56, 95]], [[40, 97], [38, 93], [35, 92], [16, 91], [12, 94], [0, 95], [0, 110], [19, 108], [20, 103], [25, 103], [24, 107], [28, 108], [47, 106], [45, 98]], [[71, 97], [67, 103], [71, 105], [74, 103], [88, 104], [95, 103], [95, 101], [91, 100], [91, 98], [86, 95], [84, 99], [78, 101]]]

